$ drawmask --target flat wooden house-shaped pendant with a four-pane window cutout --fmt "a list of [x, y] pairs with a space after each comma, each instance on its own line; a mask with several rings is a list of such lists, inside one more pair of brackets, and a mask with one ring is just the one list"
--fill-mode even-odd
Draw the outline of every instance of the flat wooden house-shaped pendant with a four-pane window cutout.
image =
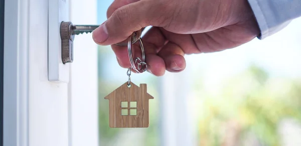
[[146, 92], [146, 84], [140, 87], [127, 82], [104, 97], [109, 99], [110, 127], [148, 127], [148, 99], [154, 99]]

